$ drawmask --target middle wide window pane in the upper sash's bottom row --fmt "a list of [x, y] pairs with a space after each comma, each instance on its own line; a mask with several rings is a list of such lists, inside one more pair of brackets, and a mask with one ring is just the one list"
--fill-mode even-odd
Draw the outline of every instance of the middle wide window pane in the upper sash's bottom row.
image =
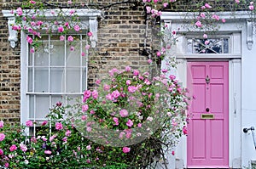
[[64, 68], [51, 68], [50, 69], [50, 92], [61, 93], [64, 92]]

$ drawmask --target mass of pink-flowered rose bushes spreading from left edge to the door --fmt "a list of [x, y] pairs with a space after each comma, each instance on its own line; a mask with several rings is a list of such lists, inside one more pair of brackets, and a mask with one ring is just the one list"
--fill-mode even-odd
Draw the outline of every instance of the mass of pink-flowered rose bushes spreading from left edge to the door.
[[[126, 67], [97, 83], [75, 104], [57, 103], [42, 123], [1, 121], [0, 166], [143, 168], [186, 133], [187, 97], [175, 76]], [[30, 127], [38, 132], [27, 137]]]

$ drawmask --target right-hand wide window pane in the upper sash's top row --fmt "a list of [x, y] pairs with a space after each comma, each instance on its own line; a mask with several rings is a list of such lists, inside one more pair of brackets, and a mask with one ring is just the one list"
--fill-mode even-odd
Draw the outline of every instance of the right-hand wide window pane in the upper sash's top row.
[[70, 50], [70, 47], [67, 46], [67, 66], [79, 66], [81, 62], [80, 43], [73, 46], [75, 48], [73, 51]]

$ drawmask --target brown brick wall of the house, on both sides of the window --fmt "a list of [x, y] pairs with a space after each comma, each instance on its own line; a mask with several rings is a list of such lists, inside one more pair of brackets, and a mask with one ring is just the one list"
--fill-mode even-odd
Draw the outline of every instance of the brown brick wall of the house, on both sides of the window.
[[[15, 49], [8, 42], [7, 19], [3, 18], [2, 9], [18, 7], [18, 1], [0, 0], [0, 119], [20, 121], [20, 42]], [[62, 5], [64, 1], [55, 1]], [[98, 44], [96, 53], [90, 54], [88, 82], [94, 86], [97, 78], [106, 76], [113, 67], [124, 68], [130, 65], [141, 68], [147, 65], [147, 57], [140, 55], [144, 47], [146, 25], [143, 7], [118, 0], [93, 1], [91, 8], [102, 8], [104, 17], [99, 20]], [[117, 5], [109, 6], [112, 3]], [[67, 3], [63, 4], [65, 7]], [[79, 8], [86, 2], [76, 3]], [[108, 8], [108, 6], [110, 8]], [[151, 31], [148, 30], [150, 36]], [[151, 38], [148, 36], [147, 46]]]

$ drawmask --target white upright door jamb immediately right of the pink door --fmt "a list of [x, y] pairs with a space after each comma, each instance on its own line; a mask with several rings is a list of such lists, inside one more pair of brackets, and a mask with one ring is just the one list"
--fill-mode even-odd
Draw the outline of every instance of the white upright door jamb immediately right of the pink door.
[[241, 59], [229, 62], [230, 167], [241, 168]]

